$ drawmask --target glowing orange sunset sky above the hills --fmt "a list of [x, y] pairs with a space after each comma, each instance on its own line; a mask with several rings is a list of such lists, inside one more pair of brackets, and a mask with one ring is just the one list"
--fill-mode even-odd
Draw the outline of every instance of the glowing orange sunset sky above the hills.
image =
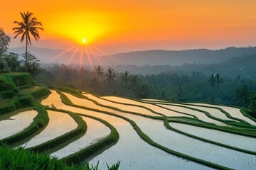
[[38, 47], [67, 48], [82, 38], [107, 53], [244, 47], [256, 45], [255, 6], [255, 0], [12, 0], [1, 2], [0, 27], [11, 35], [19, 12], [31, 11], [45, 28], [33, 41]]

